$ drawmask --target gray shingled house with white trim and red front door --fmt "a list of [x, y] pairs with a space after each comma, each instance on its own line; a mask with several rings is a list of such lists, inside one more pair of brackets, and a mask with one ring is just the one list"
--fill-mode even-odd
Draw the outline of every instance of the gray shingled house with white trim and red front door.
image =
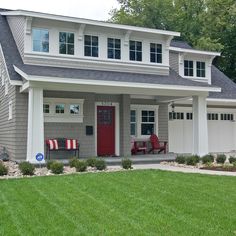
[[128, 156], [131, 136], [156, 133], [171, 152], [236, 149], [236, 85], [212, 65], [220, 53], [179, 35], [1, 9], [0, 148], [35, 162], [65, 137], [81, 156]]

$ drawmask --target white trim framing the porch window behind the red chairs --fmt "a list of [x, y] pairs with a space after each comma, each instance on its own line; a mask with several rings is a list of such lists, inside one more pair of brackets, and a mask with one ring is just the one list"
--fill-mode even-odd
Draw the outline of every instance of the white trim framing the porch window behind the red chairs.
[[158, 136], [158, 111], [159, 105], [141, 105], [141, 104], [131, 104], [130, 110], [136, 111], [136, 138], [149, 138], [150, 135], [142, 135], [141, 134], [141, 124], [142, 124], [142, 110], [153, 110], [155, 111], [155, 134]]

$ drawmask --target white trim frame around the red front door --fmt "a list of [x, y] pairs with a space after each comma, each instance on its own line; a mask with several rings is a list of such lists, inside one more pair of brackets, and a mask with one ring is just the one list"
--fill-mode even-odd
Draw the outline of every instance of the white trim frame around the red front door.
[[97, 156], [97, 107], [114, 106], [115, 107], [115, 155], [120, 156], [120, 104], [116, 102], [95, 102], [95, 155]]

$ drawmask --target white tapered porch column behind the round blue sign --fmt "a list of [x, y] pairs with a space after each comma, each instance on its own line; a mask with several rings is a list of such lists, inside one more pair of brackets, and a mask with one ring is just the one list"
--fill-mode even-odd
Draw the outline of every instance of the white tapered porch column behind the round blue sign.
[[27, 161], [38, 163], [38, 153], [44, 155], [43, 89], [29, 88]]

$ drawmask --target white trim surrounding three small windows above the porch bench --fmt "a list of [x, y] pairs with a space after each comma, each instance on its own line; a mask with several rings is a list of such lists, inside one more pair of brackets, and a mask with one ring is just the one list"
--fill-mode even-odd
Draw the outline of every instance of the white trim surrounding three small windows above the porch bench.
[[[49, 113], [44, 113], [44, 122], [52, 123], [83, 123], [83, 104], [84, 99], [67, 99], [67, 98], [44, 98], [43, 104], [49, 104]], [[65, 111], [63, 114], [55, 113], [55, 105], [64, 104]], [[69, 106], [78, 104], [80, 106], [79, 114], [70, 114]]]

